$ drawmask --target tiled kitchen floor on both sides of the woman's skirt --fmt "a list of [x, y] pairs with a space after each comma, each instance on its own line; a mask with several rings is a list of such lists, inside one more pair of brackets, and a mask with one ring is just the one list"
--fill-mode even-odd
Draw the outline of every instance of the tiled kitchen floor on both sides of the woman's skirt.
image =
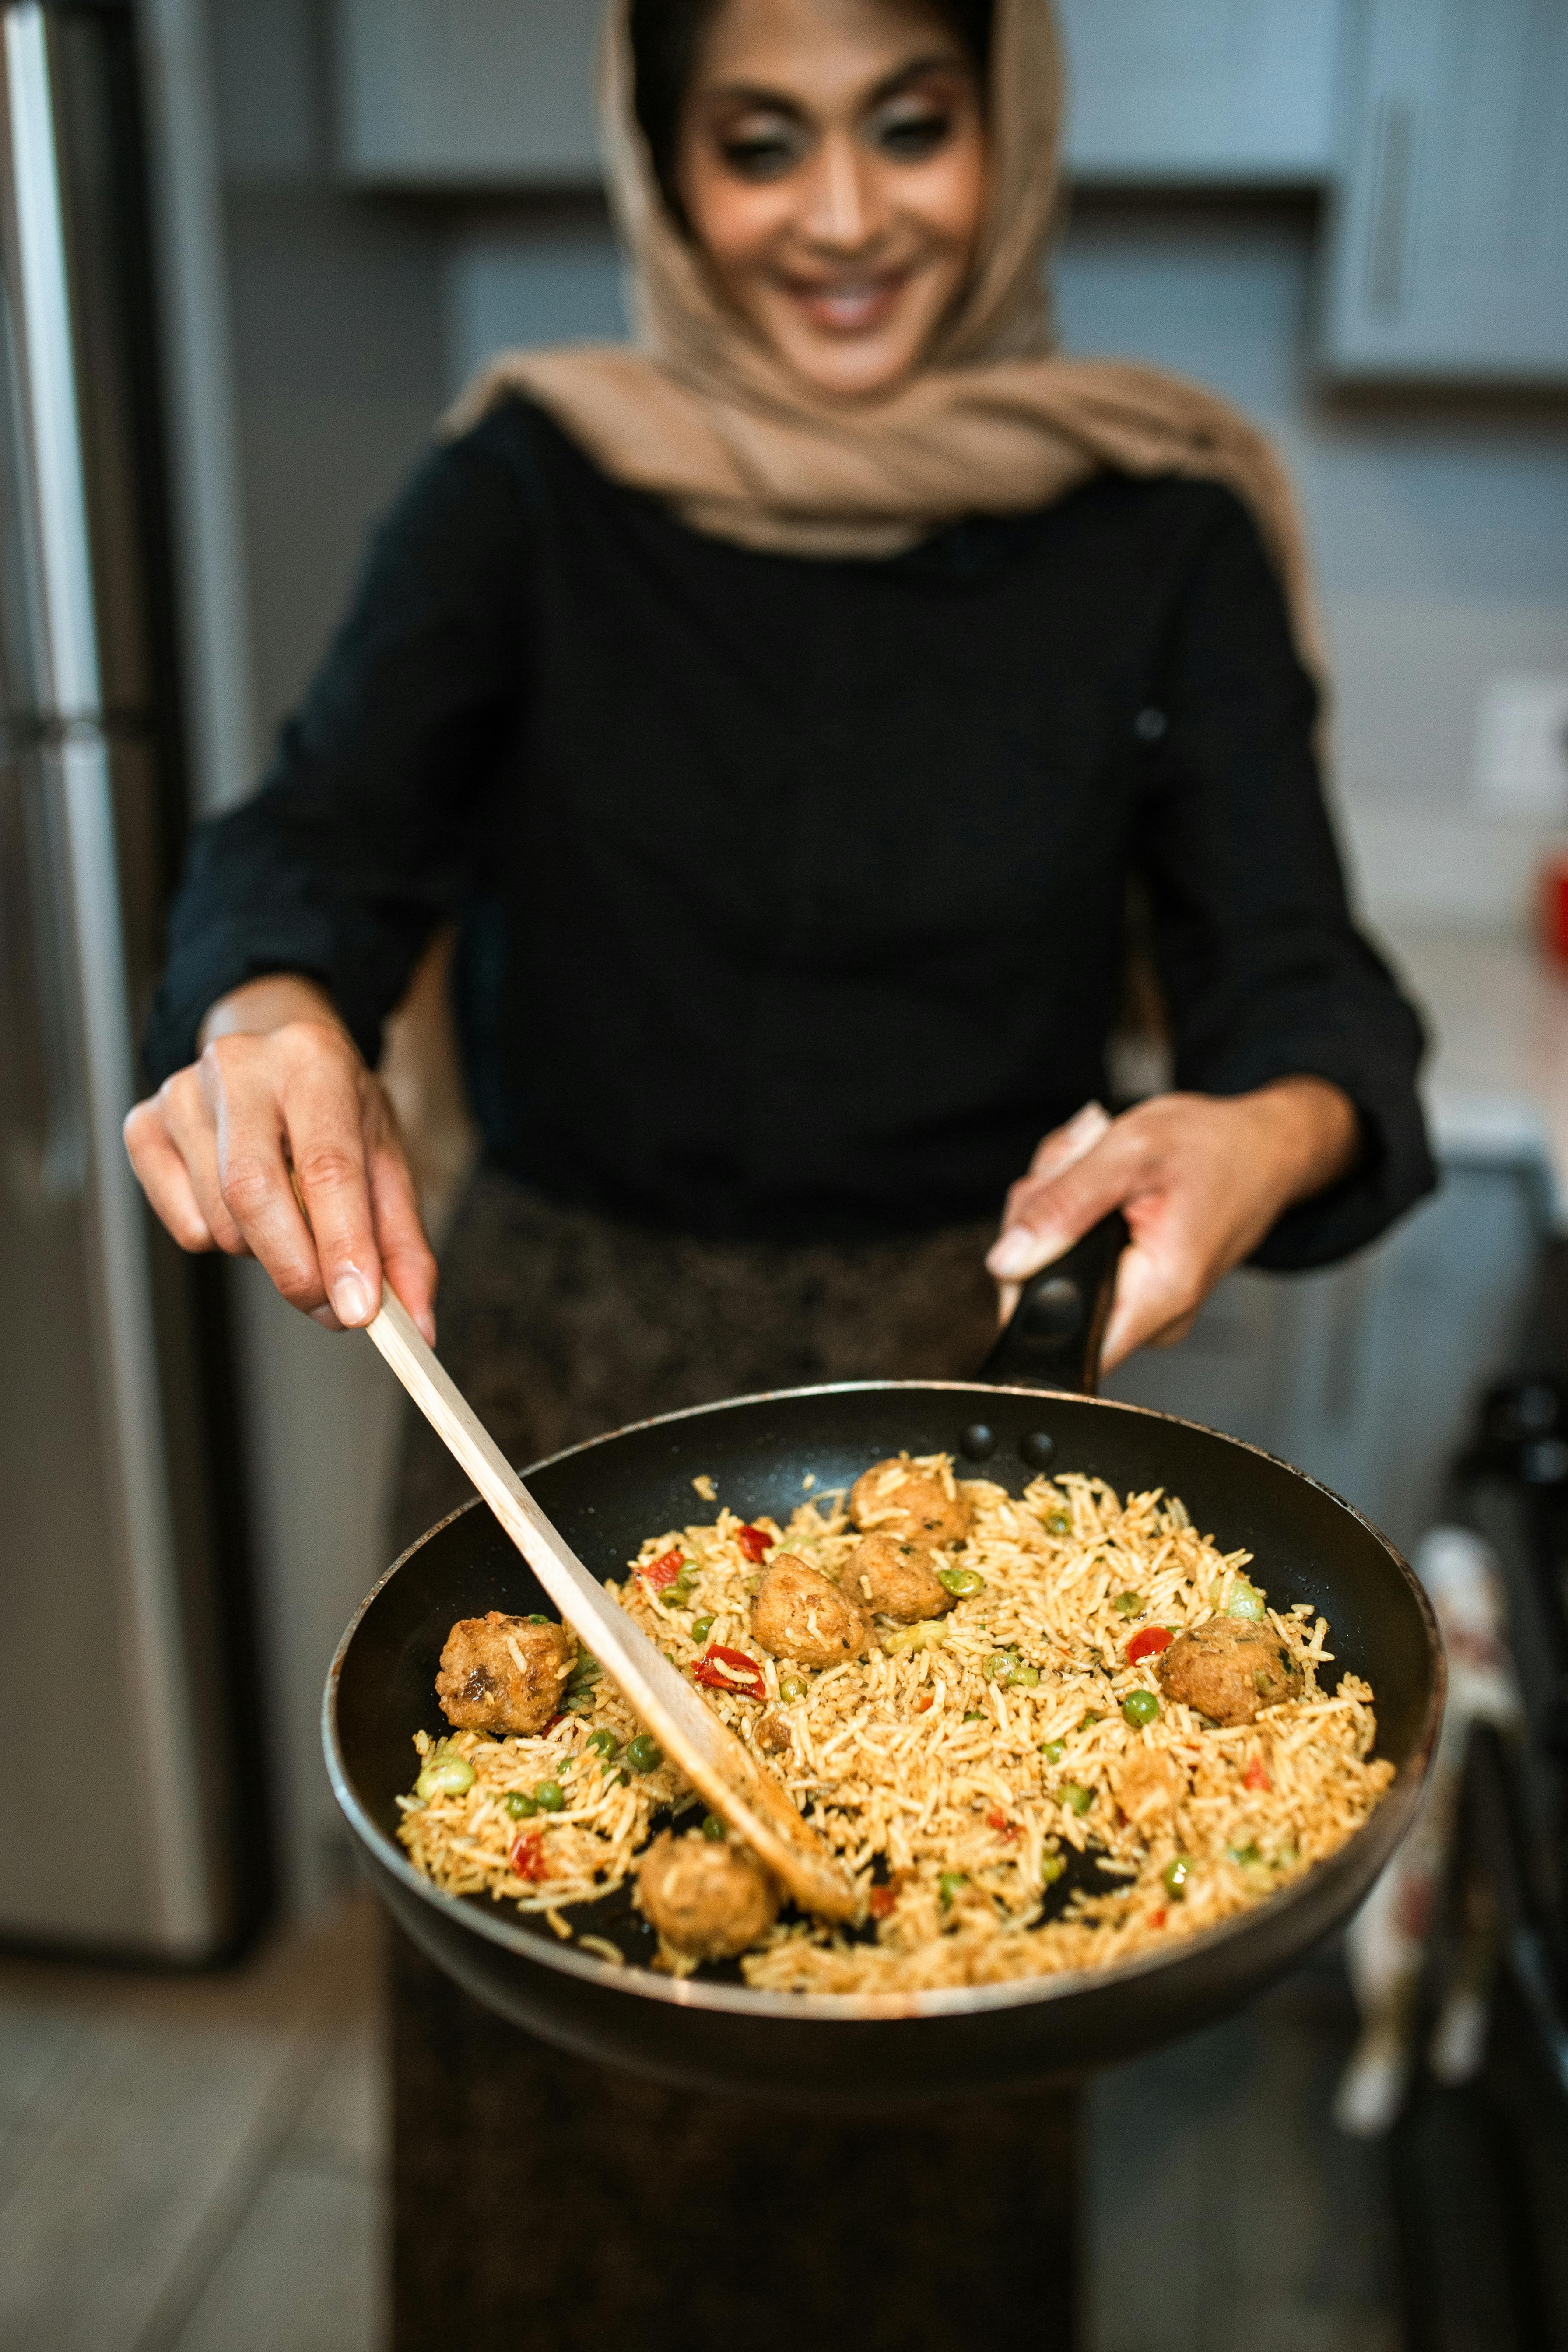
[[[1396, 2352], [1331, 1978], [1093, 2093], [1093, 2352]], [[0, 1962], [0, 2352], [378, 2352], [369, 1903], [221, 1978]]]

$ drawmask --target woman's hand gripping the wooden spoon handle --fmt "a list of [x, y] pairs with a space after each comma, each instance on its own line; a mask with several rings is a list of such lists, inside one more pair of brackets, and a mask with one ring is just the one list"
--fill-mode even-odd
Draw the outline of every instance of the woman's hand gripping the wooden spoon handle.
[[435, 1254], [393, 1105], [313, 981], [219, 997], [200, 1061], [136, 1103], [125, 1148], [181, 1249], [259, 1258], [329, 1331], [367, 1324], [386, 1275], [435, 1341]]

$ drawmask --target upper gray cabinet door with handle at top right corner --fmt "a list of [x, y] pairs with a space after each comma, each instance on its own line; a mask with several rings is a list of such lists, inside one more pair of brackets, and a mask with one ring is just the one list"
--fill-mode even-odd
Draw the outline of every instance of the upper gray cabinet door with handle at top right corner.
[[1568, 0], [1349, 0], [1324, 360], [1568, 379]]

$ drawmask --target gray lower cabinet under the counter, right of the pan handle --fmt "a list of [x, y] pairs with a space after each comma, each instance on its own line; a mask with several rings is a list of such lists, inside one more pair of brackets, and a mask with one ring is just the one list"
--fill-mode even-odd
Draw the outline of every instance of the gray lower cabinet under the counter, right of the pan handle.
[[1133, 1357], [1107, 1395], [1298, 1463], [1410, 1552], [1481, 1388], [1512, 1367], [1544, 1228], [1533, 1162], [1450, 1160], [1375, 1249], [1319, 1275], [1232, 1275], [1180, 1348]]

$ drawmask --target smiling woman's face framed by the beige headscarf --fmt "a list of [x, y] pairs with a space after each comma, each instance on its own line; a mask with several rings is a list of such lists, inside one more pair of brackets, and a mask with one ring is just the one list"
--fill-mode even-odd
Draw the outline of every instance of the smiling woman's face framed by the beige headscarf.
[[[649, 125], [661, 186], [724, 299], [804, 383], [886, 393], [973, 266], [983, 28], [879, 0], [736, 0], [703, 19], [677, 136]], [[639, 103], [642, 75], [637, 49]]]

